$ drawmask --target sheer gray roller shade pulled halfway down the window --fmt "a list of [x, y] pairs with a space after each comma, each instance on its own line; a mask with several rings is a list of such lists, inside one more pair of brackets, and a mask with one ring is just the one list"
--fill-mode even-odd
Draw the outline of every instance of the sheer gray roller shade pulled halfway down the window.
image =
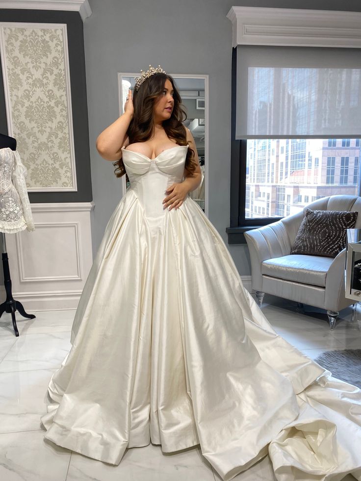
[[236, 139], [361, 136], [361, 49], [237, 46]]

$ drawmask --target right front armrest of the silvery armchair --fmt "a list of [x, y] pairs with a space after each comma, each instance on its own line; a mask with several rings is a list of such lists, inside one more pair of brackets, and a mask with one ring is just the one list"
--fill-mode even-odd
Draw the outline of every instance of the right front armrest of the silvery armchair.
[[[339, 252], [326, 275], [325, 308], [338, 311], [339, 301], [345, 297], [346, 249]], [[351, 303], [350, 303], [351, 304]]]

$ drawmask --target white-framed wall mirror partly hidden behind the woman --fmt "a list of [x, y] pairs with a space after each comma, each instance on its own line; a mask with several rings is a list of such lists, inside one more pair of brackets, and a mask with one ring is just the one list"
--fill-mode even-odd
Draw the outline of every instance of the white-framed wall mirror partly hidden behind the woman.
[[[187, 112], [184, 125], [192, 132], [196, 142], [199, 163], [202, 170], [202, 182], [200, 186], [189, 193], [189, 196], [199, 204], [206, 216], [208, 216], [208, 76], [192, 74], [170, 74], [180, 92], [182, 104]], [[119, 114], [124, 113], [124, 104], [128, 95], [128, 89], [132, 91], [135, 85], [137, 73], [118, 73]], [[123, 195], [129, 187], [125, 176], [123, 181]]]

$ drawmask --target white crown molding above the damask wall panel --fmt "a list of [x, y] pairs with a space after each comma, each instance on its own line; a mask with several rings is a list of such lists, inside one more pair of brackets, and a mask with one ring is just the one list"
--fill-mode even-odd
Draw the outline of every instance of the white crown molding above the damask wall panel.
[[0, 8], [24, 10], [70, 10], [79, 12], [82, 21], [92, 14], [88, 0], [0, 0]]

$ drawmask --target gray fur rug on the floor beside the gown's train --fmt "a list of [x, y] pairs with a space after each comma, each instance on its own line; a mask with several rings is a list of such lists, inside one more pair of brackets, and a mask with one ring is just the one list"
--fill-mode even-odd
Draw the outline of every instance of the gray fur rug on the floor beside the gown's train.
[[334, 378], [361, 389], [361, 349], [327, 351], [316, 357], [317, 364], [332, 372]]

